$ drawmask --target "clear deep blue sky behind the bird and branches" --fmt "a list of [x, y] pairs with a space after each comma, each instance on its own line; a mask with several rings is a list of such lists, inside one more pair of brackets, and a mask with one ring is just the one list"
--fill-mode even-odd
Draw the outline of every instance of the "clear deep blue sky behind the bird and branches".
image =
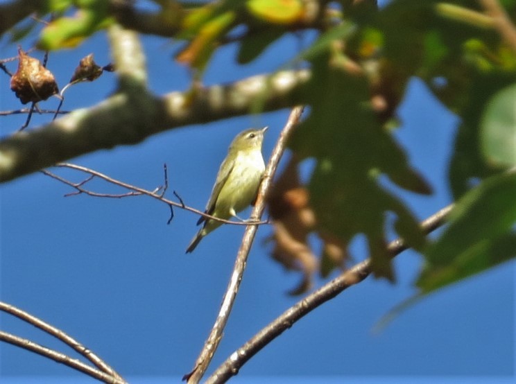
[[[174, 46], [152, 37], [145, 37], [144, 44], [151, 89], [157, 94], [187, 89], [188, 72], [171, 60]], [[237, 66], [235, 49], [228, 46], [214, 58], [205, 84], [272, 71], [298, 48], [298, 40], [286, 37], [256, 62]], [[99, 64], [110, 60], [102, 34], [77, 50], [51, 55], [48, 65], [60, 87], [88, 53], [94, 53]], [[13, 55], [15, 47], [1, 44], [1, 58]], [[6, 91], [8, 80], [0, 77], [1, 110], [19, 108], [15, 96]], [[114, 85], [110, 73], [92, 84], [76, 85], [67, 92], [64, 107], [94, 105]], [[57, 104], [50, 100], [42, 107]], [[172, 130], [138, 146], [103, 150], [73, 162], [146, 189], [162, 184], [166, 163], [170, 189], [202, 209], [234, 135], [250, 126], [269, 125], [267, 158], [288, 112]], [[399, 116], [402, 126], [396, 135], [411, 164], [435, 189], [430, 197], [399, 192], [422, 219], [451, 201], [445, 176], [458, 120], [417, 79], [408, 87]], [[32, 126], [49, 119], [35, 116]], [[22, 116], [1, 117], [0, 134], [9, 134], [23, 121]], [[61, 174], [82, 180], [76, 173]], [[97, 191], [112, 191], [105, 184], [91, 185]], [[67, 186], [40, 173], [1, 186], [0, 299], [67, 331], [123, 376], [137, 376], [135, 382], [152, 383], [189, 372], [216, 317], [243, 227], [221, 227], [193, 254], [185, 255], [197, 229], [198, 218], [192, 213], [176, 209], [173, 222], [166, 225], [168, 207], [149, 198], [64, 198], [68, 192]], [[286, 295], [299, 277], [274, 263], [263, 244], [270, 230], [259, 229], [212, 369], [299, 299]], [[353, 249], [357, 259], [365, 256], [359, 240]], [[395, 377], [399, 383], [400, 376], [411, 383], [435, 378], [447, 382], [445, 377], [472, 383], [474, 376], [510, 381], [515, 362], [514, 263], [440, 290], [399, 315], [381, 333], [372, 332], [382, 315], [415, 293], [412, 285], [421, 263], [414, 252], [399, 255], [395, 285], [370, 278], [347, 290], [252, 358], [236, 382], [261, 380], [261, 375], [282, 383], [302, 382], [299, 376], [314, 383], [321, 377], [328, 382], [346, 378], [371, 383], [390, 383]], [[0, 322], [4, 331], [68, 351], [8, 315], [0, 314]], [[28, 383], [31, 377], [37, 382], [42, 376], [52, 380], [58, 376], [65, 382], [81, 377], [67, 367], [0, 344], [1, 383]]]

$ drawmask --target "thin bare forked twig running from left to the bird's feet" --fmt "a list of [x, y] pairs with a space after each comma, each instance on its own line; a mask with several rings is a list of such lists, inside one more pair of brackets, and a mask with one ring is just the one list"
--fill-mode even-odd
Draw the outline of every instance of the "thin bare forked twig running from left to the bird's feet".
[[[80, 193], [84, 193], [85, 195], [94, 196], [97, 198], [128, 198], [131, 196], [146, 195], [146, 196], [149, 196], [150, 198], [155, 198], [156, 200], [159, 200], [160, 202], [164, 202], [165, 204], [169, 205], [169, 207], [171, 207], [171, 209], [172, 209], [172, 207], [178, 207], [178, 208], [184, 209], [186, 211], [197, 213], [200, 216], [205, 216], [205, 218], [224, 222], [225, 224], [249, 225], [248, 222], [239, 222], [239, 221], [232, 221], [232, 220], [216, 218], [212, 215], [205, 213], [204, 211], [200, 211], [198, 209], [189, 207], [184, 204], [182, 199], [179, 198], [178, 194], [175, 193], [175, 191], [174, 191], [174, 195], [179, 198], [180, 202], [175, 202], [175, 201], [169, 200], [167, 198], [164, 198], [162, 191], [168, 187], [168, 176], [165, 176], [164, 187], [160, 186], [160, 187], [154, 189], [154, 191], [148, 191], [147, 189], [139, 188], [138, 186], [134, 186], [132, 184], [121, 182], [120, 180], [114, 179], [112, 177], [109, 177], [98, 171], [94, 171], [93, 169], [87, 168], [85, 166], [79, 166], [77, 164], [70, 164], [70, 163], [59, 163], [59, 164], [55, 164], [55, 167], [71, 168], [76, 171], [81, 171], [81, 172], [84, 172], [84, 173], [87, 173], [90, 175], [85, 180], [76, 183], [76, 182], [71, 182], [70, 180], [67, 180], [64, 177], [55, 175], [54, 173], [51, 173], [50, 171], [47, 171], [47, 170], [40, 171], [44, 175], [52, 177], [53, 179], [58, 180], [59, 182], [62, 182], [63, 184], [67, 184], [67, 185], [71, 186], [72, 188], [76, 189], [75, 193], [67, 193], [65, 196], [78, 195]], [[166, 175], [166, 173], [165, 173], [165, 175]], [[99, 179], [104, 180], [105, 182], [109, 182], [110, 184], [120, 186], [121, 188], [128, 189], [129, 192], [126, 192], [126, 193], [98, 193], [98, 192], [94, 192], [94, 191], [89, 191], [89, 189], [85, 189], [84, 185], [87, 182], [89, 182], [90, 180], [92, 180], [94, 177], [98, 177]], [[171, 214], [171, 216], [173, 216], [173, 214]], [[170, 222], [170, 220], [169, 220], [169, 222]], [[268, 224], [268, 221], [257, 221], [257, 222], [252, 223], [252, 225], [263, 225], [263, 224]]]

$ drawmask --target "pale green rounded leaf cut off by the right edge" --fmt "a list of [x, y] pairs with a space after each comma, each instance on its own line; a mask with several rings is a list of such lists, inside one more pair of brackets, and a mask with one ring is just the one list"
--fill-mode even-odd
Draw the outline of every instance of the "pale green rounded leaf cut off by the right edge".
[[481, 142], [488, 162], [516, 166], [516, 84], [488, 101], [481, 121]]

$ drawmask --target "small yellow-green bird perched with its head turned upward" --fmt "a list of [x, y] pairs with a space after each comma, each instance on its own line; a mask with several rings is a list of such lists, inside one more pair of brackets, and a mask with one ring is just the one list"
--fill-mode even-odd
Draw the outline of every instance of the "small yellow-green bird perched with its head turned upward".
[[[255, 201], [261, 176], [265, 171], [261, 144], [267, 128], [245, 130], [233, 139], [227, 156], [218, 169], [205, 213], [225, 220], [238, 218], [236, 213]], [[201, 222], [204, 222], [203, 228], [193, 237], [187, 253], [192, 252], [204, 236], [223, 224], [217, 220], [206, 220], [204, 216], [197, 225]]]

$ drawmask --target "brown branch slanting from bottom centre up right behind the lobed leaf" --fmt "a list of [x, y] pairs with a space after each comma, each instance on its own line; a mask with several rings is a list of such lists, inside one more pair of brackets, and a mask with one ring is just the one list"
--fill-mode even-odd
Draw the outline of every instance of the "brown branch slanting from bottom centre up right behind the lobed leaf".
[[[434, 229], [445, 223], [446, 217], [451, 211], [453, 204], [434, 213], [421, 223], [422, 230], [426, 233], [432, 232]], [[402, 238], [398, 238], [388, 245], [388, 251], [391, 257], [397, 256], [408, 248], [408, 245]], [[258, 353], [269, 342], [273, 341], [281, 335], [286, 329], [289, 329], [295, 322], [302, 317], [318, 308], [321, 304], [336, 297], [343, 290], [360, 283], [371, 273], [371, 259], [366, 259], [354, 267], [346, 270], [336, 279], [329, 281], [324, 286], [311, 293], [300, 302], [291, 306], [282, 315], [277, 317], [273, 322], [265, 326], [255, 336], [253, 336], [246, 344], [234, 351], [224, 363], [222, 363], [210, 376], [207, 384], [225, 383], [230, 377], [238, 374], [239, 369]]]

